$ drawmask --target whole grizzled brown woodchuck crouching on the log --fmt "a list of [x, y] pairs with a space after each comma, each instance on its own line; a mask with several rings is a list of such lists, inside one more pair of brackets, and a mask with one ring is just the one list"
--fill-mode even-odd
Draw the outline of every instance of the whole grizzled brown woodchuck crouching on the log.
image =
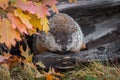
[[48, 34], [39, 31], [33, 39], [33, 53], [79, 52], [85, 48], [84, 37], [80, 26], [72, 17], [64, 13], [55, 14], [49, 19]]

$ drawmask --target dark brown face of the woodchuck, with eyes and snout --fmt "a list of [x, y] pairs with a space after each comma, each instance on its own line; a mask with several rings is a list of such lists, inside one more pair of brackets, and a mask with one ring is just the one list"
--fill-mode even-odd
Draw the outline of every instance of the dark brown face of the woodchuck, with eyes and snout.
[[55, 44], [59, 47], [56, 47], [60, 52], [68, 52], [73, 43], [72, 43], [72, 33], [67, 33], [65, 31], [58, 31], [58, 33], [53, 33]]

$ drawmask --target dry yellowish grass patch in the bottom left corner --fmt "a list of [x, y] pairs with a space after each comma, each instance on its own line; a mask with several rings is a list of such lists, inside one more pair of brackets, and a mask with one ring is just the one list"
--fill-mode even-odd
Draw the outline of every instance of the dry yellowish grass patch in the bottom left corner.
[[3, 65], [0, 66], [0, 80], [37, 80], [35, 75], [41, 75], [40, 78], [42, 78], [42, 74], [36, 68], [33, 68], [30, 63], [26, 63], [24, 66], [18, 65], [13, 69]]

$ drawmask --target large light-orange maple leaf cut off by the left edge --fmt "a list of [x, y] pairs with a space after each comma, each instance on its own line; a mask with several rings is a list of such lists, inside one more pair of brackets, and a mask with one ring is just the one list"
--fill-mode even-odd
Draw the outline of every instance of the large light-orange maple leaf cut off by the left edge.
[[5, 43], [8, 48], [15, 46], [16, 40], [20, 41], [20, 34], [15, 31], [8, 19], [0, 21], [0, 43]]

